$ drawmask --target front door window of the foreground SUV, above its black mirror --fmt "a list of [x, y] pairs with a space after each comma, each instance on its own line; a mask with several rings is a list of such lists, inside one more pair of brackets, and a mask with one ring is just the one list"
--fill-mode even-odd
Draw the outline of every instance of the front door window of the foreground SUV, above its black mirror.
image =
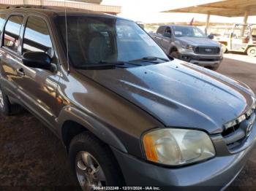
[[45, 52], [53, 57], [53, 44], [50, 40], [48, 26], [40, 17], [30, 16], [23, 38], [23, 53]]

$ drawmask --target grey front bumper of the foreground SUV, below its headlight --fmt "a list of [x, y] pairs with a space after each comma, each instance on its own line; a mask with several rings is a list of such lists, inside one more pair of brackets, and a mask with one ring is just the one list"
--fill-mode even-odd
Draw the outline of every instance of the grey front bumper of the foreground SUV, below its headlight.
[[[230, 155], [217, 155], [202, 163], [168, 168], [148, 163], [113, 149], [127, 186], [156, 186], [161, 190], [225, 189], [238, 176], [255, 145], [256, 125], [246, 149]], [[247, 142], [248, 144], [248, 142]]]

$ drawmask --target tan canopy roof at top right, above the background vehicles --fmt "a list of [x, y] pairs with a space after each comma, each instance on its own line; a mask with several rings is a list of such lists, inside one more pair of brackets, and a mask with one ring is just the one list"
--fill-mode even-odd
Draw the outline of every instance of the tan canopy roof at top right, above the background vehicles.
[[256, 15], [256, 0], [225, 0], [208, 4], [199, 4], [192, 7], [170, 9], [164, 12], [189, 12], [225, 17], [242, 17], [248, 11], [248, 15]]

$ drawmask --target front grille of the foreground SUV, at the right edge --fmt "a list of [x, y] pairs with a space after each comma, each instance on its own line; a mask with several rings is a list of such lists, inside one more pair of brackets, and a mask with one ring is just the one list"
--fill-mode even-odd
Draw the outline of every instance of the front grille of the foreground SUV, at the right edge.
[[228, 149], [234, 150], [246, 140], [252, 131], [255, 119], [256, 111], [255, 108], [252, 108], [241, 115], [241, 117], [238, 117], [236, 120], [228, 122], [225, 125], [225, 130], [222, 131], [222, 136]]

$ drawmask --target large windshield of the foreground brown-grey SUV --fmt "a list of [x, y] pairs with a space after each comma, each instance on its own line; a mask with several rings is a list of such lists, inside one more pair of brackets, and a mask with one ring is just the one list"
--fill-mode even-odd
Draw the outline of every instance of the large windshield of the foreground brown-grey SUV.
[[[57, 17], [64, 44], [65, 17]], [[69, 59], [74, 66], [165, 58], [165, 52], [140, 26], [113, 17], [67, 16]]]

